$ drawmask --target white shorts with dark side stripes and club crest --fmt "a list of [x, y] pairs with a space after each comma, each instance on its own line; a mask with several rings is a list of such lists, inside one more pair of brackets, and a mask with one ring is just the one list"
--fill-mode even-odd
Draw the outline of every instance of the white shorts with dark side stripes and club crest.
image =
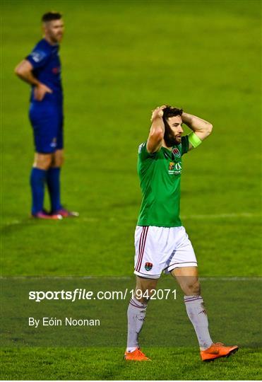
[[197, 267], [196, 255], [183, 226], [136, 226], [134, 274], [158, 279], [174, 268]]

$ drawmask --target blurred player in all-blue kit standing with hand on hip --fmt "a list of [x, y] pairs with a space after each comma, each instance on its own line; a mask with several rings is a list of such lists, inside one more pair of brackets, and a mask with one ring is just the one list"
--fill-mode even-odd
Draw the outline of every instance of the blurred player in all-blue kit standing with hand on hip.
[[[37, 219], [62, 219], [78, 216], [62, 207], [60, 172], [64, 162], [63, 89], [59, 42], [64, 35], [60, 13], [42, 16], [44, 36], [32, 52], [16, 66], [15, 73], [30, 83], [29, 117], [34, 133], [35, 160], [30, 175], [32, 216]], [[51, 211], [44, 210], [44, 187], [47, 184]]]

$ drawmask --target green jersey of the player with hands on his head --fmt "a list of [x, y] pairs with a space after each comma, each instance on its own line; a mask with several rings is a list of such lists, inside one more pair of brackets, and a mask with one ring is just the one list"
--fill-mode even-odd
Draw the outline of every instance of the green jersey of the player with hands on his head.
[[146, 142], [138, 149], [138, 176], [143, 194], [138, 226], [179, 227], [181, 156], [189, 150], [189, 137], [172, 150], [161, 147], [148, 153]]

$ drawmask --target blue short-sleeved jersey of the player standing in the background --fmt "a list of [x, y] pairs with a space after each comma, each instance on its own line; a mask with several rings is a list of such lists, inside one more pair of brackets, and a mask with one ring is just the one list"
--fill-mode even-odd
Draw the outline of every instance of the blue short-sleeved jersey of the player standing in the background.
[[[28, 57], [25, 58], [32, 64], [32, 74], [35, 78], [53, 91], [53, 93], [46, 93], [41, 103], [53, 103], [56, 106], [62, 107], [63, 89], [61, 85], [59, 45], [51, 45], [43, 38], [35, 45]], [[33, 86], [30, 100], [32, 103], [39, 103], [34, 98]]]

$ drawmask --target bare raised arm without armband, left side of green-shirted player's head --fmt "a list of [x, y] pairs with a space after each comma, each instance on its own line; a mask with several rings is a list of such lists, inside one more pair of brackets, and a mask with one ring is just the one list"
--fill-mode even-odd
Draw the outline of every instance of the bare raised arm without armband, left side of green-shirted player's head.
[[153, 110], [151, 117], [152, 125], [150, 127], [148, 141], [146, 144], [148, 153], [155, 153], [155, 151], [161, 149], [162, 140], [165, 134], [165, 125], [162, 119], [163, 109], [165, 109], [165, 105]]

